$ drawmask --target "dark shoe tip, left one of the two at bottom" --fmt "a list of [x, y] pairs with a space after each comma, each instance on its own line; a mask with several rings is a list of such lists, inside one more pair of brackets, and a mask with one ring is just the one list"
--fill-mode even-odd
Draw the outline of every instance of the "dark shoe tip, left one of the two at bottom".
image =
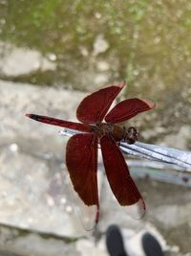
[[111, 256], [128, 256], [125, 252], [122, 235], [117, 225], [110, 225], [107, 229], [106, 246]]

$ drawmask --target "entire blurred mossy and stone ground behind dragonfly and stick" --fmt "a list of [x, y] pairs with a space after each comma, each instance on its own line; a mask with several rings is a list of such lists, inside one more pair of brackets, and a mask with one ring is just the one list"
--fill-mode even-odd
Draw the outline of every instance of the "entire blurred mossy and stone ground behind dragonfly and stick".
[[66, 188], [67, 138], [24, 117], [34, 112], [75, 120], [87, 93], [123, 80], [117, 100], [157, 104], [130, 122], [140, 141], [190, 151], [189, 0], [0, 0], [0, 255], [108, 255], [104, 233], [114, 222], [129, 241], [151, 230], [166, 255], [190, 255], [190, 188], [152, 178], [137, 180], [147, 216], [132, 221], [100, 175], [95, 245]]

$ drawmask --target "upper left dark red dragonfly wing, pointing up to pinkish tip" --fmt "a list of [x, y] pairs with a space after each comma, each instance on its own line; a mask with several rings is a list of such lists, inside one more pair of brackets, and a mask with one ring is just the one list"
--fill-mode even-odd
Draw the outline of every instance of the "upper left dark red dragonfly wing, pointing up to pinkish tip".
[[82, 100], [76, 110], [76, 117], [82, 123], [96, 124], [101, 122], [108, 109], [125, 85], [122, 82], [100, 89]]

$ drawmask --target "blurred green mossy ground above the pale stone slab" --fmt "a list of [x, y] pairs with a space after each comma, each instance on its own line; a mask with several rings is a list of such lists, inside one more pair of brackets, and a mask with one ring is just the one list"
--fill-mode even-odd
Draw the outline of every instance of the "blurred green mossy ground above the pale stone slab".
[[[141, 88], [150, 95], [156, 93], [154, 84], [162, 90], [190, 79], [189, 0], [3, 0], [0, 12], [1, 40], [56, 56], [57, 69], [51, 76], [38, 71], [15, 81], [68, 83], [91, 90], [86, 76], [93, 73], [94, 85], [101, 60], [109, 64], [102, 72], [107, 81], [126, 79], [129, 86], [134, 84], [132, 90]], [[109, 48], [93, 57], [97, 35]]]

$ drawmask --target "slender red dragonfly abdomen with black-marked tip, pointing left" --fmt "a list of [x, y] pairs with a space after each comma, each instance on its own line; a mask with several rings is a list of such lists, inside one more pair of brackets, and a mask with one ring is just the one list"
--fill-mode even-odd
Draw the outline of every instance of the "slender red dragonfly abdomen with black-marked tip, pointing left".
[[56, 118], [49, 117], [49, 116], [40, 116], [40, 115], [35, 115], [35, 114], [26, 114], [26, 116], [29, 118], [32, 118], [35, 121], [42, 122], [42, 123], [45, 123], [48, 125], [61, 127], [61, 128], [72, 128], [72, 129], [76, 129], [76, 130], [84, 131], [84, 132], [92, 131], [92, 128], [90, 126], [80, 124], [80, 123], [74, 123], [74, 122], [56, 119]]

